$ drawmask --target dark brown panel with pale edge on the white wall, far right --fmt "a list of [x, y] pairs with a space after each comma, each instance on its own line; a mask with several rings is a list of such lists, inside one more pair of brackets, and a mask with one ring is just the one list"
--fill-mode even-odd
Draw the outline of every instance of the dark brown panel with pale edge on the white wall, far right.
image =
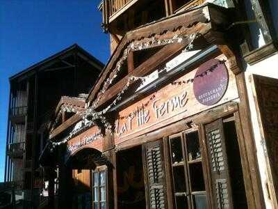
[[266, 146], [270, 199], [278, 208], [278, 79], [253, 75], [252, 83], [261, 140]]

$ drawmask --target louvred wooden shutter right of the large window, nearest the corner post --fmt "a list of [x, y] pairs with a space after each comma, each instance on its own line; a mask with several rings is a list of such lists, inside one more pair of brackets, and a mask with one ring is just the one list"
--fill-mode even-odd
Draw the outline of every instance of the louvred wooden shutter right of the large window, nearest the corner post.
[[222, 119], [205, 125], [214, 208], [233, 208]]

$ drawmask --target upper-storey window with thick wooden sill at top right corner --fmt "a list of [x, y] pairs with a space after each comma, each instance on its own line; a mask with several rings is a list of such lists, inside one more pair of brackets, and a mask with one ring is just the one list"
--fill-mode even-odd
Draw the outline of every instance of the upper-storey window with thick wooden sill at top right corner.
[[[245, 39], [247, 40], [241, 47], [243, 57], [247, 63], [253, 65], [258, 63], [268, 56], [277, 52], [277, 46], [274, 44], [277, 40], [277, 31], [275, 31], [275, 9], [272, 6], [277, 6], [276, 0], [263, 1], [240, 1], [245, 8], [243, 18], [247, 19], [249, 24], [246, 24], [249, 33]], [[246, 17], [245, 17], [246, 16]], [[277, 26], [277, 23], [276, 23]]]

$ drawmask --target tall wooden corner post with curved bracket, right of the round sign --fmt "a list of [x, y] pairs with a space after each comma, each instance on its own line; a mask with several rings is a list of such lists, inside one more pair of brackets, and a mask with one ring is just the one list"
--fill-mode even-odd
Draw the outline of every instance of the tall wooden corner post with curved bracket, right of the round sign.
[[248, 208], [265, 208], [263, 189], [259, 164], [256, 156], [256, 144], [254, 141], [253, 128], [250, 115], [250, 107], [245, 83], [245, 74], [241, 67], [238, 50], [228, 45], [218, 46], [222, 53], [227, 56], [230, 69], [236, 75], [236, 85], [240, 103], [238, 104], [238, 120], [240, 121], [239, 149], [243, 167], [243, 178]]

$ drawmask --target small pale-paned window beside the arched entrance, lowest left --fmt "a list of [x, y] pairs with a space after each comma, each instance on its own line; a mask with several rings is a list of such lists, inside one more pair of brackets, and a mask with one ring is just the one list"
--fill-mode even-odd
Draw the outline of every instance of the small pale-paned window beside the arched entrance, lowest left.
[[92, 171], [92, 204], [94, 209], [106, 209], [106, 167]]

